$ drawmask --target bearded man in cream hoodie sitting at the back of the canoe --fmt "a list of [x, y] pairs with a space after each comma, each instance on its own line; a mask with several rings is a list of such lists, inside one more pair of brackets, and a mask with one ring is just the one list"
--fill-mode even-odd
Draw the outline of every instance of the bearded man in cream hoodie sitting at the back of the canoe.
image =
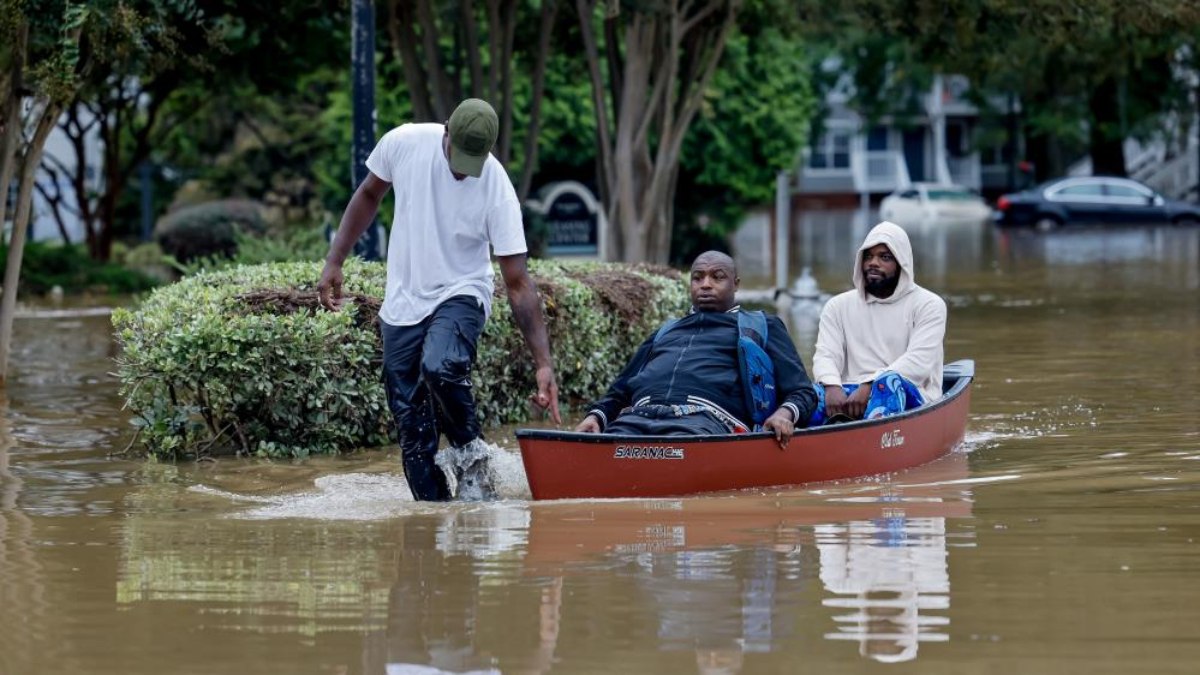
[[810, 426], [895, 414], [942, 396], [946, 301], [917, 286], [900, 226], [884, 221], [866, 234], [853, 280], [821, 311], [812, 357], [821, 401]]

